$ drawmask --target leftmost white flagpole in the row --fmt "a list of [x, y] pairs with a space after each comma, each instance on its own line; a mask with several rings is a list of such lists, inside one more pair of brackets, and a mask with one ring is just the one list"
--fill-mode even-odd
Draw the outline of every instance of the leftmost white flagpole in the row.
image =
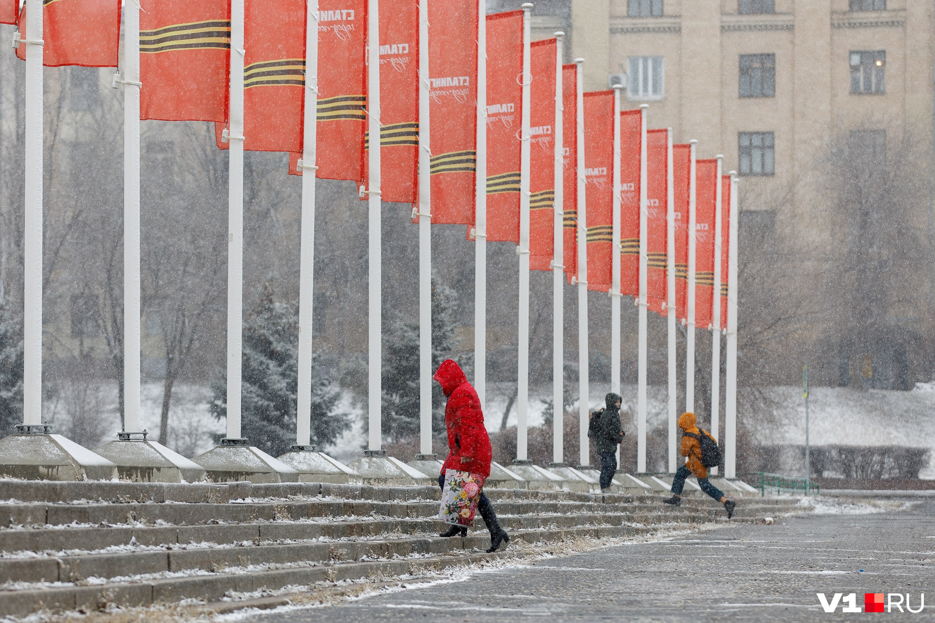
[[26, 0], [22, 431], [42, 428], [42, 0]]

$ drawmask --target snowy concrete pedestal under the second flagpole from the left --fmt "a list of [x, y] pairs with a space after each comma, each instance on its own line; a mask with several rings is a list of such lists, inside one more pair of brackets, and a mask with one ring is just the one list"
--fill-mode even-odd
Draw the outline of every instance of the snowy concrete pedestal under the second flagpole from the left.
[[[117, 466], [117, 474], [134, 482], [198, 482], [205, 479], [205, 468], [158, 442], [132, 439], [120, 433], [120, 439], [94, 448], [94, 452]], [[135, 433], [134, 433], [135, 434]]]

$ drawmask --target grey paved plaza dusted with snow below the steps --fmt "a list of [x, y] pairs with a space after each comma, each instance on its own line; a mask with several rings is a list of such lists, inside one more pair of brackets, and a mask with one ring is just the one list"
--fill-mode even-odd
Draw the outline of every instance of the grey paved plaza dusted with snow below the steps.
[[[829, 602], [834, 593], [856, 593], [862, 607], [864, 593], [882, 592], [909, 593], [913, 609], [926, 593], [921, 614], [894, 611], [887, 619], [935, 621], [935, 501], [884, 513], [851, 510], [858, 512], [729, 525], [250, 620], [819, 621], [855, 615], [841, 614], [844, 603], [826, 614], [816, 593]], [[884, 615], [859, 618], [873, 616]]]

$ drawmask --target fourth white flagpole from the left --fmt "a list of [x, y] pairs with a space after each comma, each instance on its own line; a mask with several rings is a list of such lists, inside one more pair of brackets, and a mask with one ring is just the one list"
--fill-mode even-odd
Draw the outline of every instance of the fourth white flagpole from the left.
[[[311, 444], [311, 333], [315, 279], [315, 173], [318, 140], [318, 0], [309, 0], [305, 29], [305, 114], [302, 138], [302, 224], [298, 285], [298, 417], [295, 444]], [[372, 149], [372, 148], [371, 148]], [[371, 177], [372, 178], [372, 177]]]

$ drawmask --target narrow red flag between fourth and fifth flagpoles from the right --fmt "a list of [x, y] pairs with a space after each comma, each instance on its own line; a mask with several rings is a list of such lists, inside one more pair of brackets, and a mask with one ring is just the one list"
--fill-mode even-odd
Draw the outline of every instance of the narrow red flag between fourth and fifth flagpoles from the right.
[[646, 132], [647, 308], [659, 314], [666, 303], [666, 234], [669, 202], [669, 131]]

